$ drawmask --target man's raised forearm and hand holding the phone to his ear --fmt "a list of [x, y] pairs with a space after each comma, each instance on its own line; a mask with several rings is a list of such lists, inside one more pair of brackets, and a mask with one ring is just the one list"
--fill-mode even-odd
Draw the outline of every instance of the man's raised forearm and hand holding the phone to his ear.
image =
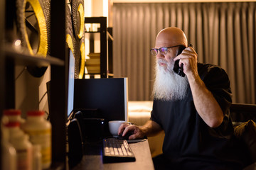
[[188, 77], [196, 111], [208, 126], [218, 127], [223, 122], [223, 111], [198, 75], [196, 52], [187, 47], [174, 61], [178, 59], [181, 59], [179, 64], [183, 63], [183, 72]]

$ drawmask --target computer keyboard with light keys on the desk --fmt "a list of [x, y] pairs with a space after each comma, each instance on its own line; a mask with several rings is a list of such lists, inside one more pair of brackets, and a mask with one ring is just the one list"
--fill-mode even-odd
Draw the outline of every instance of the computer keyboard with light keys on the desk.
[[127, 140], [107, 138], [103, 140], [103, 162], [134, 162], [136, 159]]

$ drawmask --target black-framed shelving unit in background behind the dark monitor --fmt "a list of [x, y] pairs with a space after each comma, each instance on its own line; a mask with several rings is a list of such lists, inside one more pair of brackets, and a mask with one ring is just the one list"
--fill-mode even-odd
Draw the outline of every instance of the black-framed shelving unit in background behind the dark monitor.
[[[90, 74], [90, 77], [93, 77], [95, 74], [100, 74], [101, 78], [113, 77], [112, 41], [114, 39], [112, 38], [112, 29], [107, 28], [107, 17], [85, 17], [85, 24], [88, 23], [98, 24], [100, 26], [98, 28], [87, 28], [87, 26], [85, 26], [85, 38], [87, 38], [90, 41], [90, 54], [95, 53], [95, 40], [100, 41], [100, 72], [90, 72], [88, 70], [89, 73], [87, 74]], [[92, 67], [99, 67], [95, 63], [92, 65], [94, 65]]]

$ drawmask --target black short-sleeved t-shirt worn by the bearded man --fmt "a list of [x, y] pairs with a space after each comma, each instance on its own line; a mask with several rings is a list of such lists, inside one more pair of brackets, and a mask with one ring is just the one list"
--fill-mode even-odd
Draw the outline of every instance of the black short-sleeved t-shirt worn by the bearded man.
[[198, 64], [198, 74], [222, 108], [224, 119], [218, 128], [210, 128], [198, 115], [191, 89], [179, 101], [154, 100], [151, 120], [165, 132], [163, 153], [171, 162], [238, 162], [230, 119], [231, 90], [228, 74], [213, 64]]

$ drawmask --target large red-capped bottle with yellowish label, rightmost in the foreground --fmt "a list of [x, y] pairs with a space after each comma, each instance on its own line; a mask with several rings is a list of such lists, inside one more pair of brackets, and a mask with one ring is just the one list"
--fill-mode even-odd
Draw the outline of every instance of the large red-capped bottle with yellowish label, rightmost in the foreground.
[[33, 145], [41, 145], [42, 167], [48, 169], [51, 164], [51, 125], [44, 115], [44, 111], [28, 111], [22, 128]]

